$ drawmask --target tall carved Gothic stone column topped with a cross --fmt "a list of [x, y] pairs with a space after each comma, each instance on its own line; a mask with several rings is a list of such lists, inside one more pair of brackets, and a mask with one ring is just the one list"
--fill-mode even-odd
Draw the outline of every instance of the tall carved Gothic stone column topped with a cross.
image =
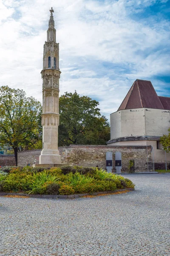
[[59, 44], [56, 43], [53, 8], [48, 23], [47, 41], [44, 44], [42, 74], [42, 151], [39, 164], [52, 167], [61, 164], [58, 150], [59, 125]]

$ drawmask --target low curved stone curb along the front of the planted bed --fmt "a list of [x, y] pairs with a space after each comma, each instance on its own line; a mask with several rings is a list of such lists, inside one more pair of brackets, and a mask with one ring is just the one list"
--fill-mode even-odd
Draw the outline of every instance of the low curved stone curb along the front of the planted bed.
[[111, 194], [111, 193], [116, 193], [116, 192], [120, 192], [120, 191], [132, 191], [132, 190], [135, 190], [135, 189], [116, 189], [114, 191], [94, 192], [94, 193], [75, 194], [75, 195], [34, 195], [34, 194], [20, 194], [20, 193], [5, 193], [5, 192], [2, 192], [2, 193], [0, 193], [0, 196], [19, 195], [19, 196], [27, 196], [27, 197], [30, 197], [30, 198], [73, 199], [73, 198], [79, 198], [79, 197], [86, 196], [86, 195]]

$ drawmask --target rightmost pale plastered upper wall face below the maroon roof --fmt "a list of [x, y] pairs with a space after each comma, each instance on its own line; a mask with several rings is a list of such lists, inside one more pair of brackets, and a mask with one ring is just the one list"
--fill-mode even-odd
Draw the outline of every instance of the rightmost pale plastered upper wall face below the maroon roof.
[[170, 111], [163, 109], [145, 108], [146, 135], [162, 136], [168, 134], [170, 128]]

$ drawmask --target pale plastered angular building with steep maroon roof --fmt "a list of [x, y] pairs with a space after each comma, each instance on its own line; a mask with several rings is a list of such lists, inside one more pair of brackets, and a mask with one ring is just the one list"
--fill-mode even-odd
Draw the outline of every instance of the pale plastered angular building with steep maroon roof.
[[[151, 145], [152, 161], [165, 162], [160, 137], [170, 128], [170, 97], [158, 96], [151, 81], [134, 81], [125, 99], [111, 113], [107, 145]], [[170, 162], [170, 153], [167, 154]]]

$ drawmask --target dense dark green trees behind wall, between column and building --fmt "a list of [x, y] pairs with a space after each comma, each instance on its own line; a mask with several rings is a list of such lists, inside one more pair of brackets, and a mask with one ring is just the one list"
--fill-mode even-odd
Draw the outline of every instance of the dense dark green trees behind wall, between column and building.
[[99, 102], [77, 92], [59, 97], [59, 146], [70, 144], [105, 145], [110, 128], [97, 108]]

